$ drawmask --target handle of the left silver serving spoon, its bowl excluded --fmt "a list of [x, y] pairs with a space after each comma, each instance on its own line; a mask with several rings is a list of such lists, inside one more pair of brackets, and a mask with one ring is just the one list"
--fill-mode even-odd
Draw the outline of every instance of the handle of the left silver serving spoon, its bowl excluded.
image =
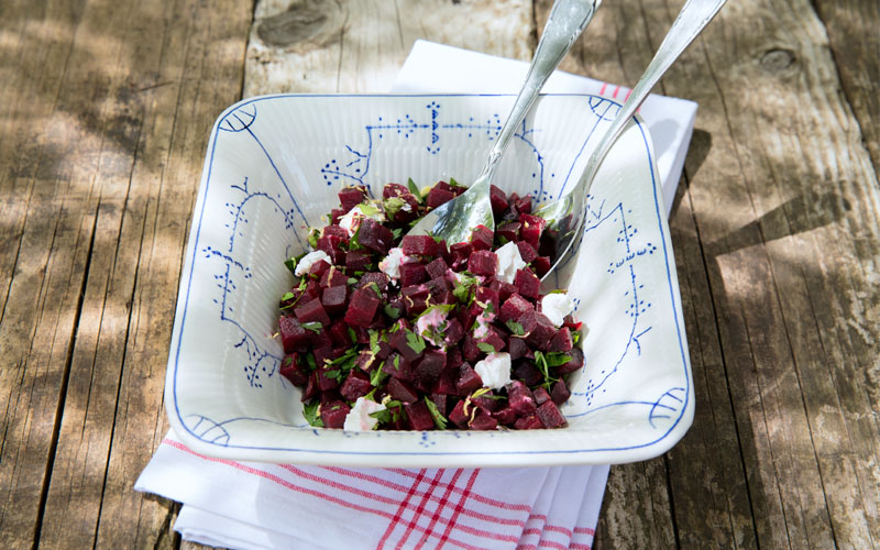
[[519, 90], [510, 114], [498, 132], [498, 139], [490, 151], [486, 164], [476, 178], [476, 183], [487, 182], [498, 165], [507, 143], [514, 136], [517, 127], [526, 117], [543, 84], [557, 68], [559, 63], [578, 41], [586, 28], [602, 0], [557, 0], [535, 50], [535, 57], [526, 75], [526, 81]]

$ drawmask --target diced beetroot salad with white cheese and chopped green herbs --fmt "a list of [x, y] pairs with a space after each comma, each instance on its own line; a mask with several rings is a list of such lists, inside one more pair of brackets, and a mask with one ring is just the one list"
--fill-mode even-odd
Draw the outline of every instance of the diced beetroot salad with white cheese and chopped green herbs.
[[404, 237], [465, 190], [387, 184], [339, 193], [311, 250], [285, 265], [280, 374], [311, 426], [346, 430], [559, 428], [565, 378], [583, 366], [581, 323], [561, 290], [542, 295], [553, 234], [531, 197], [492, 186], [495, 232], [447, 245]]

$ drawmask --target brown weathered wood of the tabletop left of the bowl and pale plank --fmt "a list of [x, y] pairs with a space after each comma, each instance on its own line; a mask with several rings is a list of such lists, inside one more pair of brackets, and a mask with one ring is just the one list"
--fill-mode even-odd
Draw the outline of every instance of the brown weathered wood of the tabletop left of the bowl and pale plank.
[[2, 10], [0, 538], [173, 548], [175, 505], [132, 485], [167, 431], [188, 221], [252, 6]]

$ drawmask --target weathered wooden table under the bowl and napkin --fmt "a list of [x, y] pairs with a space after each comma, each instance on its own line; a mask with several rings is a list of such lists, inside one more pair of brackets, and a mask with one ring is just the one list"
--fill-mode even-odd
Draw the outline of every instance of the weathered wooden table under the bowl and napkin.
[[[387, 90], [419, 37], [528, 59], [550, 3], [1, 1], [0, 546], [180, 546], [132, 484], [223, 108]], [[563, 68], [631, 85], [681, 3], [607, 0]], [[700, 103], [670, 220], [696, 418], [612, 468], [596, 548], [880, 546], [878, 29], [736, 0], [663, 80]]]

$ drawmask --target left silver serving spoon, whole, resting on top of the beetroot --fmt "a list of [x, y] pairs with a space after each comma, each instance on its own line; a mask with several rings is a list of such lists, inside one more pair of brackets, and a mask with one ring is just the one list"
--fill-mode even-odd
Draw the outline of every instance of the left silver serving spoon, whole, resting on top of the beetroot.
[[446, 239], [449, 244], [454, 244], [466, 241], [474, 228], [480, 224], [495, 229], [490, 184], [502, 154], [538, 97], [541, 87], [593, 19], [601, 3], [602, 0], [557, 0], [535, 50], [526, 81], [488, 153], [483, 170], [466, 191], [428, 212], [408, 234], [431, 233]]

